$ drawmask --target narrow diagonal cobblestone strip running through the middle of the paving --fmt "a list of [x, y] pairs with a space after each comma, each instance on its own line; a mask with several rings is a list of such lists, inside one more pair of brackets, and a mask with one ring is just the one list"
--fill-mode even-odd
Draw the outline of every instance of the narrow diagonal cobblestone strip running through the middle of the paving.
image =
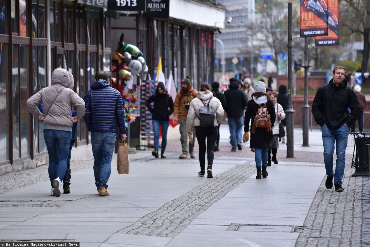
[[199, 214], [255, 173], [255, 166], [233, 167], [147, 214], [118, 233], [175, 237]]

